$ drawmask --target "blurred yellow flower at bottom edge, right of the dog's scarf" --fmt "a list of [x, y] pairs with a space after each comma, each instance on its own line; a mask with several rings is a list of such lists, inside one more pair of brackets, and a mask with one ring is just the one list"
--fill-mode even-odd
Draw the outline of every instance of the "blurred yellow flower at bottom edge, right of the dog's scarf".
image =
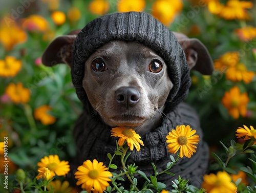
[[219, 171], [217, 175], [204, 175], [202, 188], [207, 190], [207, 193], [234, 193], [237, 192], [237, 186], [231, 182], [231, 177], [226, 171]]

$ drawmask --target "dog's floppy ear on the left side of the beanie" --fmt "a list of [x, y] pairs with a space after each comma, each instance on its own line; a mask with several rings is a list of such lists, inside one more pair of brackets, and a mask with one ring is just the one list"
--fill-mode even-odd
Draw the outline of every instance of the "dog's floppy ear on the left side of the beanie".
[[73, 44], [80, 31], [74, 30], [68, 35], [56, 37], [42, 54], [42, 63], [48, 67], [58, 63], [67, 63], [70, 66]]

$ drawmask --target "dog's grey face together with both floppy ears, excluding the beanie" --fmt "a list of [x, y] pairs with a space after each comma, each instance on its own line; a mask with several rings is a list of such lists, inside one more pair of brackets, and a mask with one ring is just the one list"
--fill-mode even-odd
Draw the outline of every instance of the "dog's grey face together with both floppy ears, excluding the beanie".
[[[79, 32], [54, 39], [42, 56], [42, 63], [71, 66], [73, 44]], [[189, 68], [211, 74], [213, 62], [202, 42], [174, 34]], [[97, 48], [84, 64], [82, 81], [91, 105], [106, 124], [132, 126], [139, 134], [160, 124], [166, 98], [173, 88], [164, 60], [135, 41], [115, 40]]]

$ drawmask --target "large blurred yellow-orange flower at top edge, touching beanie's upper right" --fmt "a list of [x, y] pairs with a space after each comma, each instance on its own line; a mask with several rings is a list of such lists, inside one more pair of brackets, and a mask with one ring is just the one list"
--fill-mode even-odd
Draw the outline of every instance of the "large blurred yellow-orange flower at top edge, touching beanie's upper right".
[[182, 7], [181, 1], [157, 0], [152, 6], [152, 15], [164, 25], [170, 26]]

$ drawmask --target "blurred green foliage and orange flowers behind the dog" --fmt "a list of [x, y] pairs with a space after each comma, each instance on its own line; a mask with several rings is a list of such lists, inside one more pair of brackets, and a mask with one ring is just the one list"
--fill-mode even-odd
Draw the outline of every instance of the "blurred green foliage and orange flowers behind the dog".
[[[236, 140], [233, 133], [244, 124], [256, 126], [255, 9], [255, 2], [239, 0], [1, 0], [0, 141], [8, 137], [9, 190], [18, 168], [33, 179], [42, 157], [75, 156], [72, 128], [81, 105], [70, 68], [45, 67], [40, 60], [55, 37], [81, 29], [100, 15], [144, 11], [170, 30], [200, 39], [214, 59], [215, 71], [211, 76], [191, 71], [186, 102], [197, 110], [210, 149], [221, 152], [220, 140]], [[3, 159], [1, 155], [0, 173]], [[230, 164], [237, 168], [247, 161], [239, 158]], [[211, 160], [209, 170], [215, 167]], [[8, 192], [4, 176], [0, 191]], [[59, 179], [52, 186], [67, 189], [69, 183]]]

